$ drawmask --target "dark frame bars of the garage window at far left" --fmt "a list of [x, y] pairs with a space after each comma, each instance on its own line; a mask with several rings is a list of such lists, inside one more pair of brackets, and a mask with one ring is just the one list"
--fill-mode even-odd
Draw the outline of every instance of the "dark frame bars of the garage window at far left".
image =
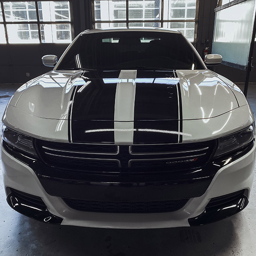
[[[0, 0], [0, 9], [2, 10], [2, 15], [3, 15], [3, 21], [0, 21], [0, 24], [3, 24], [4, 26], [4, 31], [5, 31], [5, 37], [6, 37], [6, 43], [2, 44], [14, 44], [14, 43], [9, 43], [9, 38], [7, 34], [7, 26], [8, 24], [36, 24], [38, 27], [38, 37], [39, 37], [39, 42], [38, 43], [29, 43], [29, 44], [70, 44], [70, 43], [42, 43], [42, 38], [41, 38], [41, 29], [40, 25], [41, 24], [70, 24], [70, 30], [71, 30], [71, 41], [74, 39], [74, 18], [73, 18], [73, 6], [72, 6], [72, 1], [71, 0], [65, 0], [69, 2], [70, 6], [70, 21], [40, 21], [40, 16], [39, 16], [39, 8], [38, 8], [38, 2], [54, 2], [54, 0], [26, 0], [26, 1], [21, 1], [21, 0]], [[58, 2], [58, 0], [55, 0]], [[59, 0], [61, 2], [61, 0]], [[6, 21], [5, 17], [5, 12], [4, 12], [4, 2], [35, 2], [35, 9], [36, 9], [36, 17], [37, 20], [35, 21]], [[27, 44], [26, 42], [24, 43], [18, 43], [18, 44]]]

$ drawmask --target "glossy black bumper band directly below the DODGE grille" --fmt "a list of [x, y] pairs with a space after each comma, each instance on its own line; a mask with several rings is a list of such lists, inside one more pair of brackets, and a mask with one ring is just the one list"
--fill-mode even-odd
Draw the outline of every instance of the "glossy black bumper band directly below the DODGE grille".
[[[32, 168], [45, 191], [52, 196], [91, 201], [166, 201], [200, 197], [216, 172], [249, 152], [254, 141], [232, 157], [209, 160], [204, 166], [189, 169], [155, 168], [154, 173], [140, 173], [136, 168], [100, 168], [98, 172], [65, 170], [47, 166], [8, 147], [9, 154]], [[168, 172], [167, 172], [168, 171]]]

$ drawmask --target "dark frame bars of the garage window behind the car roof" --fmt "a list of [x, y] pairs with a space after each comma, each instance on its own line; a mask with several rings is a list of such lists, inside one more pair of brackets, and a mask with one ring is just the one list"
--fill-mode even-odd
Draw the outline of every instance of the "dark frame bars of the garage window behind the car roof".
[[[107, 0], [102, 0], [107, 1]], [[163, 28], [163, 23], [167, 22], [194, 22], [195, 23], [195, 33], [194, 33], [194, 41], [192, 44], [196, 44], [197, 36], [198, 36], [198, 16], [199, 16], [199, 0], [196, 0], [195, 5], [195, 19], [173, 19], [173, 20], [164, 20], [163, 19], [163, 6], [164, 0], [160, 0], [160, 19], [143, 19], [143, 20], [133, 20], [129, 19], [129, 0], [125, 0], [126, 2], [126, 19], [123, 20], [95, 20], [95, 12], [94, 12], [94, 0], [91, 0], [91, 13], [92, 13], [92, 27], [95, 29], [96, 23], [126, 23], [126, 28], [129, 28], [129, 23], [160, 23], [160, 28]], [[122, 27], [119, 27], [120, 29]], [[125, 27], [123, 27], [125, 28]], [[146, 28], [146, 27], [145, 27]]]

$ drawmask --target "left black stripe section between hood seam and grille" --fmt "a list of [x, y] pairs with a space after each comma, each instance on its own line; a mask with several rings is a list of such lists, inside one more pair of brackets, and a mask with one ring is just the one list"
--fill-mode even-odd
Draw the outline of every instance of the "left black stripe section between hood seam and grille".
[[[113, 121], [72, 120], [71, 122], [73, 143], [114, 143]], [[111, 131], [104, 131], [106, 129]]]

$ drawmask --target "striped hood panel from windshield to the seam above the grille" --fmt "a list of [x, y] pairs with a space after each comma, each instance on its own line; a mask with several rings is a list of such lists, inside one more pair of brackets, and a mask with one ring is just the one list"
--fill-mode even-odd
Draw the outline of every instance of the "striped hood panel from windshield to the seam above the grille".
[[18, 90], [16, 108], [47, 119], [146, 121], [209, 119], [238, 108], [209, 70], [52, 71]]

